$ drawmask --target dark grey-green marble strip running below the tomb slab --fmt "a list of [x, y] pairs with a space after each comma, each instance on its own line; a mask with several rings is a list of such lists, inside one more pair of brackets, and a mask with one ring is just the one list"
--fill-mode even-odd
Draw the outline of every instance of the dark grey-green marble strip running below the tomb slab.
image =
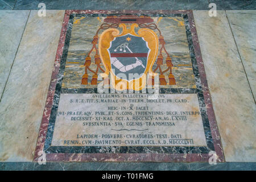
[[[150, 164], [150, 165], [149, 165]], [[46, 164], [38, 164], [36, 162], [0, 162], [0, 171], [255, 171], [256, 163], [248, 162], [225, 162], [210, 165], [209, 163], [57, 163], [46, 162]]]

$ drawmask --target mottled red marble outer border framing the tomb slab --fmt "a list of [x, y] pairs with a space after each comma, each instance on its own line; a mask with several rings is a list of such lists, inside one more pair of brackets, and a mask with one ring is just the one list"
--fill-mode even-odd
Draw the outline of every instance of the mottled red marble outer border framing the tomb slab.
[[[214, 149], [218, 156], [218, 162], [225, 162], [224, 154], [222, 151], [220, 134], [218, 133], [218, 127], [216, 118], [213, 111], [212, 100], [207, 84], [207, 78], [205, 75], [204, 64], [201, 57], [201, 51], [199, 46], [199, 40], [197, 38], [196, 26], [193, 19], [192, 10], [66, 10], [63, 20], [63, 27], [61, 29], [59, 46], [57, 47], [57, 53], [52, 72], [51, 84], [49, 85], [46, 106], [44, 108], [42, 123], [39, 130], [38, 142], [36, 144], [34, 162], [38, 161], [38, 158], [42, 155], [44, 148], [44, 142], [46, 141], [46, 133], [49, 123], [49, 117], [51, 114], [51, 107], [53, 104], [53, 97], [55, 93], [55, 87], [57, 82], [57, 74], [60, 68], [61, 55], [63, 53], [63, 47], [65, 42], [65, 36], [68, 28], [68, 21], [70, 14], [188, 14], [189, 26], [191, 29], [193, 46], [195, 48], [197, 65], [200, 73], [200, 80], [203, 84], [203, 94], [205, 105], [207, 108], [207, 114], [210, 124], [210, 130], [212, 133], [212, 139]], [[46, 154], [47, 162], [208, 162], [210, 156], [208, 154]]]

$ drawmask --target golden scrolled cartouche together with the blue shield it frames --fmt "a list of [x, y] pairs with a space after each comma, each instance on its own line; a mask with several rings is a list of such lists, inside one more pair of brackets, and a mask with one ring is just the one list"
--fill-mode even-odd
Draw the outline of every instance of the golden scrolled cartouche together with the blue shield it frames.
[[153, 74], [152, 66], [158, 54], [158, 36], [148, 28], [140, 28], [138, 34], [133, 23], [123, 28], [120, 34], [117, 28], [102, 32], [99, 40], [101, 60], [110, 73], [111, 83], [116, 90], [141, 90], [146, 86], [147, 73]]

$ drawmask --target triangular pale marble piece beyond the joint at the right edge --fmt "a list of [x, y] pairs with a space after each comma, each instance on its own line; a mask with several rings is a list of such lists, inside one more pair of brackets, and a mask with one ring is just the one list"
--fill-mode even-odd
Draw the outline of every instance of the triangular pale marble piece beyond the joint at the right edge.
[[256, 98], [256, 11], [226, 11], [251, 91]]

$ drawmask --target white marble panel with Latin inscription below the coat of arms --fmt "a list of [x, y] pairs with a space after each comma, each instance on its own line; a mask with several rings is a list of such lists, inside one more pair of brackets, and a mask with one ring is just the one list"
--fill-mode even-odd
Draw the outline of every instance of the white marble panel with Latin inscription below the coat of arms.
[[[109, 96], [109, 94], [61, 94], [51, 146], [207, 146], [197, 94], [162, 94], [160, 95], [162, 97], [159, 98], [163, 101], [160, 103], [148, 102], [146, 94], [137, 94], [137, 96], [141, 96], [139, 99], [135, 99], [140, 100], [139, 103], [129, 102], [132, 99], [127, 98], [133, 96], [133, 94], [113, 95], [120, 96], [117, 97], [119, 98], [117, 99], [118, 103], [111, 103], [112, 107], [119, 108], [120, 114], [113, 114], [114, 111], [108, 109], [110, 104], [86, 102], [89, 99], [99, 101], [96, 98], [101, 97], [101, 100], [104, 96]], [[109, 98], [106, 100], [111, 100], [112, 97]], [[70, 103], [71, 100], [76, 99], [79, 101], [84, 100], [85, 102], [82, 104]], [[122, 103], [122, 100], [127, 100], [127, 102]], [[174, 104], [167, 102], [170, 100], [186, 100], [187, 103]], [[123, 107], [127, 108], [122, 109], [126, 113], [131, 112], [128, 109], [131, 104], [133, 104], [134, 109], [142, 107], [142, 110], [132, 111], [133, 117], [129, 116], [129, 114], [121, 114], [120, 103], [122, 103]], [[147, 107], [147, 109], [144, 107]], [[110, 114], [109, 111], [113, 113]], [[142, 116], [143, 114], [141, 113], [146, 113], [146, 111], [153, 114]], [[158, 114], [159, 111], [162, 114]], [[171, 111], [176, 112], [176, 117], [183, 111], [193, 111], [196, 114], [183, 114], [181, 118], [177, 119], [170, 114]], [[122, 119], [117, 122], [117, 117], [122, 117]], [[85, 118], [85, 120], [82, 120], [82, 118]], [[166, 119], [164, 120], [163, 118]], [[171, 126], [155, 126], [153, 124], [156, 121], [166, 122], [171, 124]], [[98, 126], [96, 123], [104, 123], [105, 125]], [[141, 125], [133, 125], [135, 123], [140, 123]], [[86, 137], [84, 137], [85, 134]], [[166, 135], [169, 139], [160, 137], [149, 137], [150, 139], [147, 137], [128, 138], [127, 135], [125, 137], [125, 134], [128, 136], [133, 134], [136, 136], [149, 134], [152, 136]], [[93, 137], [87, 137], [88, 135]], [[103, 137], [108, 135], [122, 135], [122, 137]], [[177, 139], [179, 141], [183, 140], [183, 142], [177, 142]], [[77, 143], [68, 144], [67, 141], [77, 141]], [[148, 150], [147, 152], [150, 151]]]

